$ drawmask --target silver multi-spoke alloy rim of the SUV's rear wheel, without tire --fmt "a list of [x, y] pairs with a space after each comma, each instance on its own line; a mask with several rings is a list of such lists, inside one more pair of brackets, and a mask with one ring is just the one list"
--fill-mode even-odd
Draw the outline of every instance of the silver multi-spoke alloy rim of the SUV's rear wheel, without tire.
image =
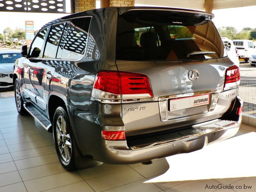
[[62, 116], [58, 116], [56, 122], [57, 145], [62, 159], [68, 163], [71, 158], [71, 140], [67, 130], [67, 124]]

